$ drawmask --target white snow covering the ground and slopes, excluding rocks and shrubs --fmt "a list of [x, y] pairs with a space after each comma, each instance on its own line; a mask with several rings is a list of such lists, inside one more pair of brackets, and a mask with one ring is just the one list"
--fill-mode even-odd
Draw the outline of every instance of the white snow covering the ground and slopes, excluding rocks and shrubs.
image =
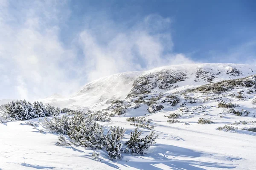
[[[215, 82], [224, 79], [237, 79], [247, 77], [256, 72], [256, 66], [236, 65], [236, 64], [196, 64], [196, 65], [177, 65], [156, 68], [145, 72], [129, 72], [116, 74], [111, 77], [91, 82], [76, 95], [70, 98], [48, 97], [44, 101], [55, 103], [65, 103], [68, 107], [93, 108], [100, 110], [106, 108], [105, 103], [109, 98], [125, 99], [125, 95], [132, 88], [132, 83], [142, 74], [162, 71], [163, 69], [174, 69], [187, 71], [189, 79], [178, 82], [179, 88], [169, 91], [161, 91], [172, 94], [186, 88], [204, 85], [209, 82], [195, 82], [195, 72], [198, 67], [212, 69], [212, 72], [221, 71], [221, 74], [214, 79]], [[227, 69], [236, 67], [242, 72], [241, 75], [234, 77], [226, 74]], [[253, 70], [253, 72], [251, 71]], [[190, 71], [190, 72], [189, 72]], [[190, 74], [194, 73], [194, 74]], [[126, 78], [128, 77], [128, 78]], [[123, 82], [126, 80], [125, 86]], [[230, 94], [245, 90], [244, 99], [238, 99]], [[195, 97], [196, 103], [189, 104], [184, 108], [194, 111], [182, 115], [177, 120], [180, 123], [170, 124], [164, 117], [170, 113], [180, 113], [180, 105], [175, 107], [165, 106], [163, 110], [148, 114], [148, 106], [140, 104], [141, 107], [131, 109], [125, 115], [111, 117], [111, 122], [99, 122], [105, 130], [110, 126], [120, 126], [126, 129], [124, 141], [130, 137], [130, 133], [135, 126], [126, 121], [127, 117], [145, 116], [145, 119], [152, 119], [150, 125], [154, 125], [154, 132], [158, 135], [157, 144], [151, 146], [146, 151], [145, 156], [130, 155], [122, 153], [122, 160], [111, 161], [105, 150], [91, 150], [72, 144], [71, 146], [58, 146], [58, 134], [49, 133], [39, 124], [34, 127], [27, 125], [26, 122], [38, 122], [38, 119], [28, 121], [14, 121], [0, 124], [0, 170], [253, 170], [256, 167], [254, 161], [256, 150], [256, 133], [243, 130], [243, 128], [256, 127], [256, 123], [247, 125], [232, 125], [238, 129], [235, 131], [217, 130], [217, 127], [230, 125], [239, 121], [256, 121], [253, 116], [256, 113], [255, 105], [252, 104], [255, 94], [247, 94], [247, 88], [233, 89], [223, 94], [202, 94], [189, 93], [187, 96]], [[151, 95], [159, 94], [159, 89], [155, 89]], [[99, 98], [104, 98], [99, 101]], [[228, 108], [218, 108], [218, 100], [207, 100], [207, 97], [222, 97], [225, 102], [232, 102], [239, 105], [236, 109], [250, 111], [248, 116], [236, 116], [228, 113]], [[129, 101], [130, 99], [126, 99]], [[182, 101], [184, 98], [182, 98]], [[181, 103], [180, 103], [181, 104]], [[183, 109], [184, 109], [183, 108]], [[221, 113], [221, 114], [220, 114]], [[221, 117], [222, 116], [222, 117]], [[209, 125], [198, 124], [199, 118], [211, 119], [214, 123]], [[143, 130], [142, 137], [148, 135], [151, 130]], [[99, 159], [94, 160], [91, 154], [93, 151], [100, 153]]]

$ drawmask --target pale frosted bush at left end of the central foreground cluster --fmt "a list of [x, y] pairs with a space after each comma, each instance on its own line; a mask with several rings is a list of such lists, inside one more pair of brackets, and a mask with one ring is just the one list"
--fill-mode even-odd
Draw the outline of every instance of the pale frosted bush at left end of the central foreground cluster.
[[70, 129], [70, 119], [67, 116], [52, 117], [52, 120], [44, 119], [44, 126], [52, 133], [61, 133], [66, 135]]

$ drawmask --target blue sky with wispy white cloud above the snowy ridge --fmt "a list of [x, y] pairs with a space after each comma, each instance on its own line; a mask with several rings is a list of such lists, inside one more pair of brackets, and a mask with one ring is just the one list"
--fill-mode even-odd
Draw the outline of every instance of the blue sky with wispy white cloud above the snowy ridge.
[[0, 99], [69, 95], [124, 71], [256, 64], [254, 0], [0, 0]]

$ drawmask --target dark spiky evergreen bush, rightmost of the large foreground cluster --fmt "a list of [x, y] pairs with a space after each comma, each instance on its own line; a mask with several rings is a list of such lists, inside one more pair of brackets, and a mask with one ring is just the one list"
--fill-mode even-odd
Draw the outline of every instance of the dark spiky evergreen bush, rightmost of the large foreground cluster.
[[157, 139], [158, 136], [154, 136], [155, 133], [153, 131], [145, 138], [139, 138], [141, 133], [142, 131], [138, 131], [137, 127], [134, 132], [131, 132], [131, 138], [125, 143], [129, 150], [131, 150], [131, 154], [137, 153], [138, 155], [144, 155], [145, 150], [148, 150], [150, 146], [156, 143], [155, 139]]

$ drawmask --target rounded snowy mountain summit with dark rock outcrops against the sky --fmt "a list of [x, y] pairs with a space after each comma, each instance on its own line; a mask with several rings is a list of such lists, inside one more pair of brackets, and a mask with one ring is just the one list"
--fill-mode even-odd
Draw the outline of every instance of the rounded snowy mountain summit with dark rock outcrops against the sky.
[[227, 79], [247, 77], [256, 73], [255, 65], [189, 64], [170, 65], [149, 71], [126, 72], [97, 79], [75, 95], [64, 98], [50, 96], [42, 102], [79, 110], [97, 105], [104, 108], [110, 99], [125, 99], [145, 91], [167, 92]]

